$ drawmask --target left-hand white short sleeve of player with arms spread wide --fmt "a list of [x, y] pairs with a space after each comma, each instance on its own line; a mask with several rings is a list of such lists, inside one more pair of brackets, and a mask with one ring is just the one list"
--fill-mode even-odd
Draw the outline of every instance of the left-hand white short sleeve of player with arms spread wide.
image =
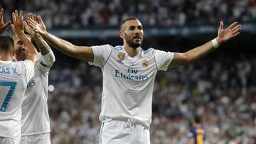
[[100, 45], [100, 46], [92, 46], [93, 50], [93, 62], [89, 62], [90, 65], [95, 65], [102, 68], [107, 59], [110, 57], [110, 53], [112, 51], [111, 45]]

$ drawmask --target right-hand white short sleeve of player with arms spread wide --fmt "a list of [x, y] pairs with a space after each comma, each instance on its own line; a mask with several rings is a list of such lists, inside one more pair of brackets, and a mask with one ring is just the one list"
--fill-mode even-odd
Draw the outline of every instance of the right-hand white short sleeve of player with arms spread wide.
[[154, 57], [158, 70], [166, 71], [171, 60], [174, 58], [174, 52], [165, 52], [162, 50], [154, 50]]

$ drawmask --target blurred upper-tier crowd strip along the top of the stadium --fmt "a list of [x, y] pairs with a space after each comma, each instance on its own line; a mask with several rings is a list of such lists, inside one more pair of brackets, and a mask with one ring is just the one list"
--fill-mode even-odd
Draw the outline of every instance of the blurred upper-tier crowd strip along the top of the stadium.
[[144, 26], [188, 26], [256, 21], [256, 0], [1, 0], [11, 19], [15, 9], [43, 17], [48, 28], [119, 26], [136, 16]]

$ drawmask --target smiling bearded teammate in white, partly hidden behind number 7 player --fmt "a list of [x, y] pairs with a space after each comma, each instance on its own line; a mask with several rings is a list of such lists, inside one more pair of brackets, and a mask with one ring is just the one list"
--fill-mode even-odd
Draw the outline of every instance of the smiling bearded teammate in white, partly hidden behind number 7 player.
[[[29, 18], [36, 21], [36, 16], [28, 13]], [[21, 116], [21, 144], [50, 144], [50, 118], [48, 114], [48, 73], [55, 62], [55, 56], [49, 45], [41, 35], [35, 33], [33, 28], [26, 26], [27, 37], [36, 41], [38, 49], [38, 62], [35, 74], [28, 82], [22, 103]], [[25, 45], [14, 31], [11, 31], [16, 49], [16, 60], [25, 60], [28, 55]]]

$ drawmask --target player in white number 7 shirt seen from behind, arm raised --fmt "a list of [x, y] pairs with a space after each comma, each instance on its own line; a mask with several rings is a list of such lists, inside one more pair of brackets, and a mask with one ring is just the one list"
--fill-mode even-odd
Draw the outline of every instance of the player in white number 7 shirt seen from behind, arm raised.
[[[0, 13], [0, 29], [3, 23]], [[24, 61], [13, 62], [14, 41], [10, 37], [0, 38], [0, 143], [19, 144], [21, 139], [21, 104], [28, 81], [33, 77], [36, 50], [23, 31], [23, 13], [12, 13], [14, 31], [27, 46], [29, 55]]]

